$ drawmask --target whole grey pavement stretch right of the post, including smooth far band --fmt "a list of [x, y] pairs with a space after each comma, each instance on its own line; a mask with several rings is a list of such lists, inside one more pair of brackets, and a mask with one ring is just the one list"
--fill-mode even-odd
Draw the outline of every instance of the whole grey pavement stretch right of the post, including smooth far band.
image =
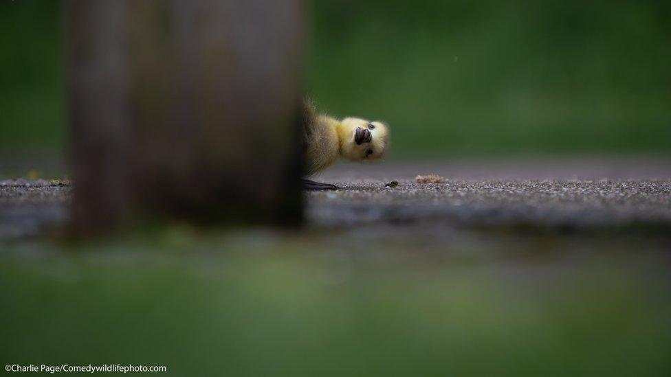
[[[438, 174], [442, 183], [418, 183]], [[643, 178], [647, 177], [647, 178]], [[558, 229], [671, 225], [671, 163], [563, 161], [339, 165], [308, 194], [309, 219], [325, 226], [388, 222]], [[395, 187], [387, 183], [397, 181]]]

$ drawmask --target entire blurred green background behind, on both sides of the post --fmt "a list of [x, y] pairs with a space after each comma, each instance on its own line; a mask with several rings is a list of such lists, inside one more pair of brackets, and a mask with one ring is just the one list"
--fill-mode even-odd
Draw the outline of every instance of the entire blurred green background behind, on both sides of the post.
[[[0, 148], [63, 150], [63, 2], [0, 3]], [[392, 156], [671, 152], [668, 1], [320, 0], [307, 93]]]

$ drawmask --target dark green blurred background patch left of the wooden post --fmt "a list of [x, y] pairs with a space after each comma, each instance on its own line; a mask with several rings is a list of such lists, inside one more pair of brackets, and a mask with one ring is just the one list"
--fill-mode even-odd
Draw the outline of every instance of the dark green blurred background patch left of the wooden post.
[[64, 148], [62, 1], [0, 3], [0, 149]]

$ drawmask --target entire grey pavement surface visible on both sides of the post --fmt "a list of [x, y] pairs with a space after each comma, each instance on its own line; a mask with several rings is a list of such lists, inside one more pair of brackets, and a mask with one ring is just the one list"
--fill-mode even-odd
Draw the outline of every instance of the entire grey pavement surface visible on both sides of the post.
[[[417, 183], [418, 174], [442, 183]], [[655, 161], [423, 161], [342, 164], [313, 177], [338, 191], [307, 192], [309, 229], [366, 237], [451, 231], [671, 234], [671, 163]], [[395, 187], [386, 183], [397, 181]], [[0, 181], [0, 238], [36, 236], [67, 220], [72, 187]], [[456, 230], [455, 230], [456, 229]]]

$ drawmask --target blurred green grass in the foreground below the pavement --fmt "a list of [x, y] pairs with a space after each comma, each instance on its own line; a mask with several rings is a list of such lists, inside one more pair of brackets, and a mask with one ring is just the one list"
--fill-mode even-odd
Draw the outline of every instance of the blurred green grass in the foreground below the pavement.
[[314, 242], [170, 231], [32, 253], [10, 244], [2, 361], [199, 376], [671, 372], [671, 300], [654, 253], [614, 253], [615, 242], [562, 267], [566, 250], [381, 257]]

